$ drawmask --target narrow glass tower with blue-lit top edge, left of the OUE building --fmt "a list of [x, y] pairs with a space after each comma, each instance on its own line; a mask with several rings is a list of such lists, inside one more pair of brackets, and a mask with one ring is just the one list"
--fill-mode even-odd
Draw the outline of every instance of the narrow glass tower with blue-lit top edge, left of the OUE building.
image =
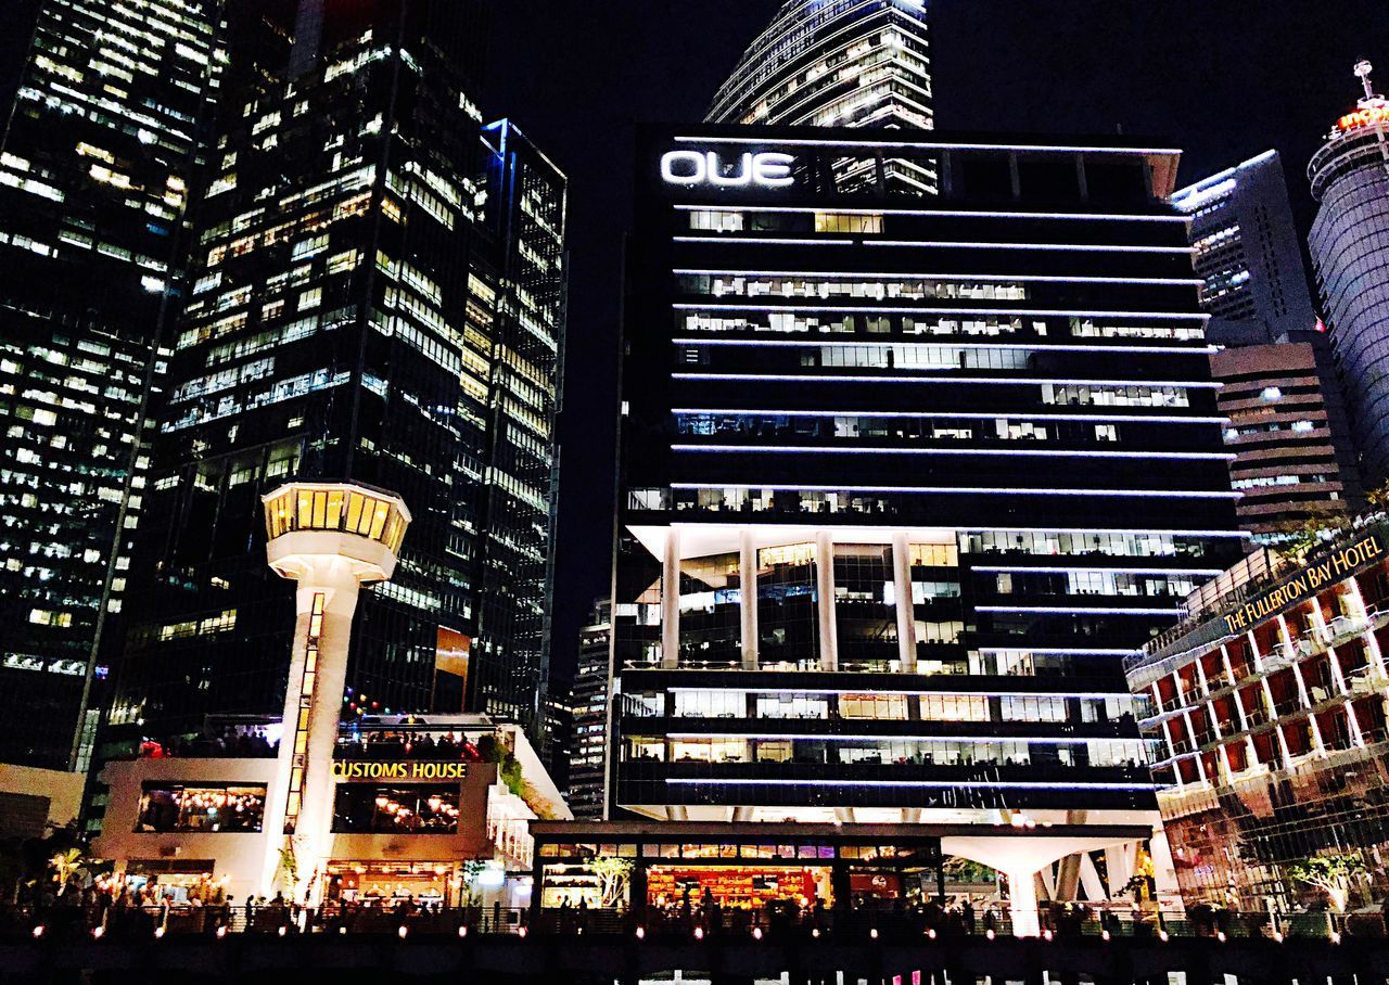
[[510, 119], [485, 128], [483, 143], [475, 275], [490, 261], [496, 293], [474, 300], [492, 307], [492, 364], [471, 688], [478, 710], [531, 724], [550, 677], [568, 181]]

